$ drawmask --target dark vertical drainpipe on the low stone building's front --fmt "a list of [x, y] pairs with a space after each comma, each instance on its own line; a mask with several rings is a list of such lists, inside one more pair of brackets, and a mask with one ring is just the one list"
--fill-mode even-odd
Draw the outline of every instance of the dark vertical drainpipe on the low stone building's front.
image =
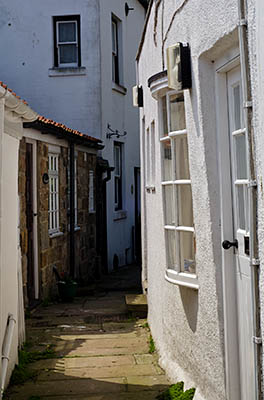
[[70, 146], [70, 276], [75, 274], [75, 215], [74, 215], [74, 143], [69, 142]]

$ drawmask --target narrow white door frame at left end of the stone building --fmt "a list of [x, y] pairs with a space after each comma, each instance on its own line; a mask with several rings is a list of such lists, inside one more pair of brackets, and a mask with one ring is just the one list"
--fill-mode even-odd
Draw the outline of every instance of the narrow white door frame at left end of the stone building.
[[37, 141], [26, 138], [32, 144], [32, 187], [33, 187], [33, 257], [34, 257], [34, 292], [39, 299], [39, 262], [38, 262], [38, 186], [37, 186]]

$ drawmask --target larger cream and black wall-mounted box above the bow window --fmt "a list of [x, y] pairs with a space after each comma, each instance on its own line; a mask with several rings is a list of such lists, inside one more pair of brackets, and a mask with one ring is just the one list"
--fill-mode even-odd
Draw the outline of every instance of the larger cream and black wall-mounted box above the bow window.
[[177, 91], [191, 89], [191, 53], [189, 44], [176, 43], [167, 48], [168, 86]]

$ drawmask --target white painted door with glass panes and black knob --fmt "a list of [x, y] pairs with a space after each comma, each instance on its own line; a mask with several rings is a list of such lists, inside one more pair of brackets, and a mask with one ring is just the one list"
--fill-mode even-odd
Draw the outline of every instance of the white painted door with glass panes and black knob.
[[[240, 399], [255, 399], [253, 301], [249, 258], [248, 160], [243, 120], [240, 67], [227, 73], [233, 237], [224, 237], [229, 268], [235, 268]], [[229, 232], [232, 232], [229, 229]], [[230, 247], [231, 245], [231, 247]], [[233, 256], [231, 256], [233, 255]], [[232, 384], [232, 383], [231, 383]]]

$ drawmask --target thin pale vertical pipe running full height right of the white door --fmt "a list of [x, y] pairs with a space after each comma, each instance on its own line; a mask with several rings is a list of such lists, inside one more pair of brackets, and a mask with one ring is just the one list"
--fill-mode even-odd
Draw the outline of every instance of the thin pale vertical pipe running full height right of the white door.
[[[249, 229], [250, 229], [250, 264], [253, 295], [253, 323], [254, 323], [254, 355], [256, 393], [254, 398], [260, 400], [261, 396], [261, 325], [259, 311], [259, 254], [257, 235], [257, 181], [254, 160], [254, 137], [252, 129], [252, 93], [249, 66], [249, 46], [247, 28], [247, 0], [238, 0], [239, 14], [239, 46], [241, 58], [242, 96], [244, 106], [244, 120], [248, 151], [248, 176], [249, 176]], [[253, 395], [253, 394], [252, 394]]]

